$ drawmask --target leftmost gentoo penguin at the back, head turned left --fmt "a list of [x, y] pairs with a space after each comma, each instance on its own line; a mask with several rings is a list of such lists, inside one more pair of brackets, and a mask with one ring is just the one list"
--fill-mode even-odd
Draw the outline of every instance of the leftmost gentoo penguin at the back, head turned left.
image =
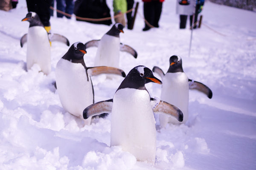
[[48, 34], [41, 23], [38, 14], [35, 12], [29, 12], [22, 21], [29, 21], [29, 30], [27, 34], [24, 34], [20, 39], [20, 46], [23, 47], [27, 42], [27, 55], [26, 55], [26, 67], [30, 69], [34, 64], [38, 64], [41, 71], [44, 74], [49, 74], [51, 71], [51, 53], [50, 43], [51, 41], [61, 41], [69, 46], [69, 41], [66, 37], [59, 34]]

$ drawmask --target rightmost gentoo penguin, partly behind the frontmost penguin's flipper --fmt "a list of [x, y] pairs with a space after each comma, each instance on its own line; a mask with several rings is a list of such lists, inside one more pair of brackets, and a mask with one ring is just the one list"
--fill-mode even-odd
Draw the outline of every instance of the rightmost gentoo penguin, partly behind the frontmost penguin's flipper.
[[186, 123], [189, 117], [189, 89], [196, 89], [206, 94], [210, 99], [212, 98], [212, 91], [201, 82], [189, 79], [183, 71], [182, 59], [180, 56], [172, 56], [169, 59], [170, 65], [166, 74], [154, 66], [153, 72], [159, 74], [162, 78], [163, 85], [161, 91], [161, 100], [177, 106], [183, 112], [183, 122], [178, 122], [171, 116], [160, 115], [160, 125], [165, 127], [168, 122], [174, 124]]

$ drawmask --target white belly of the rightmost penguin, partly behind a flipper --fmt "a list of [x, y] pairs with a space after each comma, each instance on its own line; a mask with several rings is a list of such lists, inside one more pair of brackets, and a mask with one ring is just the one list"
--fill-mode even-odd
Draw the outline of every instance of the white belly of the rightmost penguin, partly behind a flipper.
[[[177, 106], [183, 112], [183, 122], [188, 119], [189, 107], [189, 82], [185, 73], [166, 73], [163, 77], [161, 100]], [[166, 120], [165, 115], [160, 115], [160, 123]], [[180, 123], [177, 119], [170, 117], [169, 122]]]

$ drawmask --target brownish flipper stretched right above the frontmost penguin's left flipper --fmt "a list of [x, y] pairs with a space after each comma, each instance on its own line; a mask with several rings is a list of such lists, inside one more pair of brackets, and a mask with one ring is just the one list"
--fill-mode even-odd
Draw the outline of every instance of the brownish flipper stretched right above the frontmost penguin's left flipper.
[[115, 67], [108, 67], [108, 66], [98, 66], [98, 67], [88, 67], [87, 73], [90, 76], [97, 76], [99, 74], [117, 74], [119, 76], [125, 77], [126, 74], [123, 70]]

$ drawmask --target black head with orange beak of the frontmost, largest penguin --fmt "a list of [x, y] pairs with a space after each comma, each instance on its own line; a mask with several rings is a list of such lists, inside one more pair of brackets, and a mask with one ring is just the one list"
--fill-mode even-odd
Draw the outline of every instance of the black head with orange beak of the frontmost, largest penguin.
[[135, 88], [140, 90], [146, 90], [145, 84], [149, 82], [162, 84], [160, 79], [154, 77], [153, 72], [149, 68], [143, 65], [139, 65], [131, 69], [131, 71], [127, 74], [118, 89]]

